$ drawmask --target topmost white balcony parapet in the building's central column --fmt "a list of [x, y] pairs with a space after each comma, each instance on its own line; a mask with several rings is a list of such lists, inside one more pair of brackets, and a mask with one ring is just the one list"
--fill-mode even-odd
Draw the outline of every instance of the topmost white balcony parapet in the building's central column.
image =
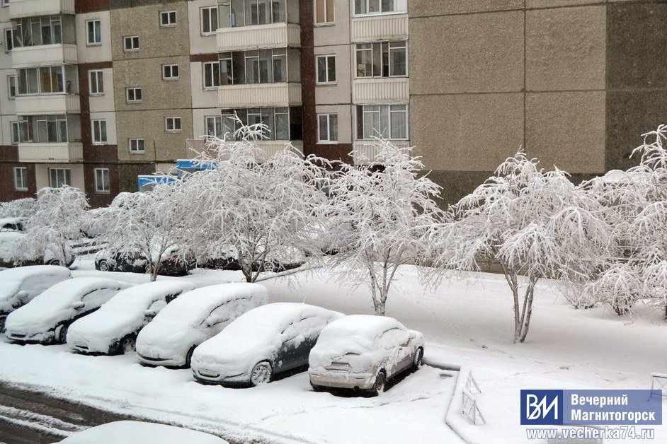
[[301, 47], [301, 27], [295, 23], [239, 26], [217, 30], [219, 52]]

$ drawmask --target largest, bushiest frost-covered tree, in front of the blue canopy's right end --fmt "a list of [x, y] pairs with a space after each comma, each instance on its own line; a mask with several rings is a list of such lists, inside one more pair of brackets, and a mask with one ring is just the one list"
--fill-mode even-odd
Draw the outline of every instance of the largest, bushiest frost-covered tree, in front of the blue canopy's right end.
[[280, 268], [321, 255], [313, 232], [326, 205], [327, 163], [303, 158], [291, 144], [267, 156], [256, 141], [268, 128], [238, 122], [235, 134], [208, 137], [197, 158], [205, 169], [183, 178], [189, 208], [183, 233], [200, 258], [232, 250], [253, 282], [268, 264]]

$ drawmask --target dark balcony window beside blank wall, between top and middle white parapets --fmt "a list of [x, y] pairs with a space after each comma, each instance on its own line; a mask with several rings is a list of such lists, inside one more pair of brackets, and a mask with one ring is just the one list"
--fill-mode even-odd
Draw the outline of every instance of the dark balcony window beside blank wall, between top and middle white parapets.
[[401, 42], [360, 43], [357, 77], [407, 76], [407, 45]]

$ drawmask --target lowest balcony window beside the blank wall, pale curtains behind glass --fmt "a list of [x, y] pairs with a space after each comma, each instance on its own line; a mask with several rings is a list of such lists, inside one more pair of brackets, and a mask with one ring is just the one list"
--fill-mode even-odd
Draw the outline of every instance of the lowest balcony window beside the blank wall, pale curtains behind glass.
[[358, 105], [357, 139], [408, 139], [407, 105]]

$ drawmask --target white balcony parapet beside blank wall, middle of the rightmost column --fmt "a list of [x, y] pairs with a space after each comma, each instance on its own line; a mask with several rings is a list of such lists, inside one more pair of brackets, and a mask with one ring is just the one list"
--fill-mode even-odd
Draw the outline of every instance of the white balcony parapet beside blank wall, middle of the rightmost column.
[[352, 86], [352, 101], [355, 105], [408, 103], [410, 101], [409, 78], [355, 78]]

